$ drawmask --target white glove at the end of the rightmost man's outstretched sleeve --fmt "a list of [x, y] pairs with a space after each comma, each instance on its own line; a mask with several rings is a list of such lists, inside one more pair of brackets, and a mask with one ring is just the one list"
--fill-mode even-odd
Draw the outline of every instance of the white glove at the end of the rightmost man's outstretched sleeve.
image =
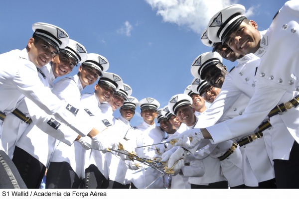
[[204, 137], [199, 129], [189, 129], [176, 136], [175, 139], [177, 140], [175, 146], [192, 148]]

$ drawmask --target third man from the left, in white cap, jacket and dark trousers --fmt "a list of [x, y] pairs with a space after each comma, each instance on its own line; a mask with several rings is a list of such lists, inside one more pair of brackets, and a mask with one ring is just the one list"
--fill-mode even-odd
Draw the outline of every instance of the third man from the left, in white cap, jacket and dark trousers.
[[[105, 60], [105, 64], [101, 64], [99, 57]], [[87, 60], [79, 67], [79, 72], [72, 77], [61, 79], [55, 83], [52, 91], [60, 99], [72, 100], [75, 106], [81, 107], [81, 91], [86, 86], [94, 84], [108, 68], [109, 63], [106, 58], [99, 54], [89, 53], [87, 54]], [[88, 113], [88, 111], [86, 112]], [[104, 127], [101, 127], [101, 129], [103, 130]], [[86, 137], [86, 139], [89, 138]], [[49, 169], [47, 171], [46, 188], [79, 188], [81, 180], [84, 178], [84, 176], [82, 177], [82, 159], [84, 159], [84, 155], [85, 149], [79, 142], [75, 142], [71, 146], [60, 142], [53, 151], [51, 160], [47, 160]], [[57, 171], [64, 172], [57, 173]]]

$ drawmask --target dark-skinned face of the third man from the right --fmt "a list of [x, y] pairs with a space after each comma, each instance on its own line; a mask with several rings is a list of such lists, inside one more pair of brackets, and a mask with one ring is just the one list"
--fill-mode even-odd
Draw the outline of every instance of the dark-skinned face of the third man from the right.
[[218, 63], [214, 66], [209, 66], [201, 74], [202, 79], [213, 87], [221, 88], [227, 74], [226, 67]]

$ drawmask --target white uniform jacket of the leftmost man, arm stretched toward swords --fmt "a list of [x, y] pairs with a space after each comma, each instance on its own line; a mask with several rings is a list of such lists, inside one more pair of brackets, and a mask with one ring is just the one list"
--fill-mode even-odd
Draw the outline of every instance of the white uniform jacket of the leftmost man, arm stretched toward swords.
[[[87, 125], [81, 125], [78, 122], [86, 118], [86, 116], [83, 116], [86, 115], [85, 111], [74, 109], [71, 104], [59, 100], [53, 95], [51, 90], [39, 80], [36, 66], [27, 60], [27, 57], [22, 57], [20, 50], [12, 50], [1, 54], [0, 61], [1, 112], [9, 113], [13, 111], [18, 103], [24, 97], [27, 97], [45, 112], [56, 116], [82, 136], [91, 131], [93, 126], [88, 125], [87, 119]], [[28, 109], [30, 111], [29, 106]], [[33, 121], [38, 119], [35, 115], [30, 115]], [[80, 118], [78, 118], [78, 115], [81, 115]], [[48, 121], [43, 121], [43, 123], [46, 122]]]

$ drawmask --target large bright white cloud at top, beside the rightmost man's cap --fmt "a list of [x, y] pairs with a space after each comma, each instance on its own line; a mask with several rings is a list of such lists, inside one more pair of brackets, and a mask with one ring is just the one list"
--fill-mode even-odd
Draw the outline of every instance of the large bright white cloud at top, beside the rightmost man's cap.
[[[198, 34], [206, 28], [210, 18], [220, 9], [238, 0], [146, 0], [164, 22], [175, 23]], [[252, 14], [254, 8], [249, 8]]]

